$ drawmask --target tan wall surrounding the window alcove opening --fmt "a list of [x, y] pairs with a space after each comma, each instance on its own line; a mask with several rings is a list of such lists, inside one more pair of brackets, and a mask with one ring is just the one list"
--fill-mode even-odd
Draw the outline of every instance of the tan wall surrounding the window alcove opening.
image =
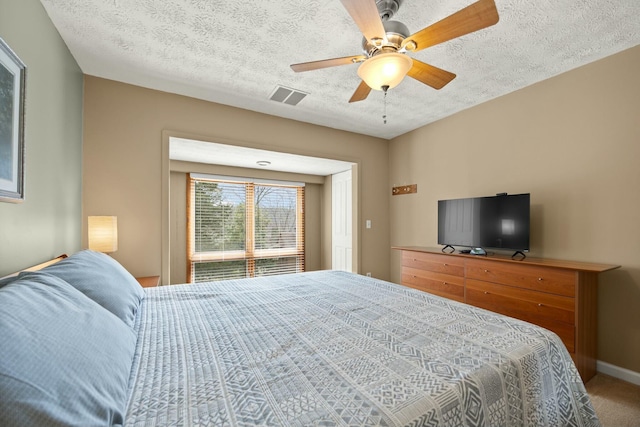
[[[134, 275], [161, 272], [163, 132], [175, 131], [359, 163], [360, 271], [389, 277], [388, 141], [92, 76], [84, 118], [84, 228], [87, 215], [117, 215], [113, 256]], [[365, 230], [365, 219], [374, 228]], [[321, 239], [309, 236], [308, 244], [323, 257], [320, 227]]]

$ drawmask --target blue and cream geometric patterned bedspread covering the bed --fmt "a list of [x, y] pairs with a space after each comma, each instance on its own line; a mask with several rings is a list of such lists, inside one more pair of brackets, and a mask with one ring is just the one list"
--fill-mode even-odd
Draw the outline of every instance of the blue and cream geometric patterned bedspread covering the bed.
[[127, 426], [594, 426], [559, 338], [351, 273], [147, 289]]

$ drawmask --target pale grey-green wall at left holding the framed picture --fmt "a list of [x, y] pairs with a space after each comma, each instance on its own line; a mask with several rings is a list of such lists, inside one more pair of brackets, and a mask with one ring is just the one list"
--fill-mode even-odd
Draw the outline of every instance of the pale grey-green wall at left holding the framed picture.
[[1, 277], [80, 249], [83, 77], [38, 0], [0, 0], [0, 37], [27, 67], [25, 200], [0, 202]]

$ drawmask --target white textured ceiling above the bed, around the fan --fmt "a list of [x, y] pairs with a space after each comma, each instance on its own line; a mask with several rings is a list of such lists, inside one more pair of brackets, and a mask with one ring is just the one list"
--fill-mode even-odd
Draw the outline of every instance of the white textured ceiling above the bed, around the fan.
[[[374, 0], [372, 0], [374, 1]], [[414, 33], [473, 0], [405, 0]], [[41, 0], [85, 74], [390, 139], [640, 44], [639, 0], [496, 0], [500, 21], [410, 54], [457, 74], [442, 90], [406, 78], [348, 100], [357, 65], [290, 64], [361, 53], [339, 0]], [[297, 106], [278, 85], [308, 93]]]

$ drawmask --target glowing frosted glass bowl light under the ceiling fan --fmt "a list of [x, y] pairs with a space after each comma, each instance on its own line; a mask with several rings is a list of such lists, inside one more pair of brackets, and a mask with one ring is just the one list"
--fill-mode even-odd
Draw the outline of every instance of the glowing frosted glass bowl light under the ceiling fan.
[[371, 89], [383, 90], [400, 84], [413, 66], [413, 59], [401, 53], [380, 53], [373, 56], [358, 67], [358, 76]]

